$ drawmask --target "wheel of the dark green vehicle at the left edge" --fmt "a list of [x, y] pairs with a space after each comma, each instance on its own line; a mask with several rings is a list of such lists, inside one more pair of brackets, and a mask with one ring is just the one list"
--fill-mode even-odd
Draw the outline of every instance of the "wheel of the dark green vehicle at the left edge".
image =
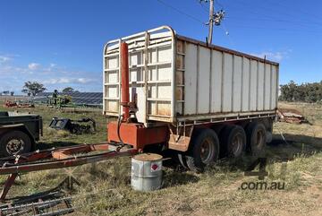
[[27, 153], [30, 150], [30, 137], [21, 131], [8, 132], [0, 140], [0, 155], [3, 157]]

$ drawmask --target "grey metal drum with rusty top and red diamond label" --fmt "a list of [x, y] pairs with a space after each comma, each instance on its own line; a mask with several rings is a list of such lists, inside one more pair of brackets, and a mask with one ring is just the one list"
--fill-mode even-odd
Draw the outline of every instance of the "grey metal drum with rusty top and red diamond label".
[[153, 191], [162, 186], [162, 156], [137, 154], [131, 159], [131, 187], [138, 191]]

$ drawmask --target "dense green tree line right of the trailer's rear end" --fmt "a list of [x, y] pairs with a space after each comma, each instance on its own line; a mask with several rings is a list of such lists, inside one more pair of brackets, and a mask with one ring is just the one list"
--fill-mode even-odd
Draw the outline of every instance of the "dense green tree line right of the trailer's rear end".
[[280, 85], [280, 100], [290, 102], [322, 102], [322, 81], [312, 83], [288, 82]]

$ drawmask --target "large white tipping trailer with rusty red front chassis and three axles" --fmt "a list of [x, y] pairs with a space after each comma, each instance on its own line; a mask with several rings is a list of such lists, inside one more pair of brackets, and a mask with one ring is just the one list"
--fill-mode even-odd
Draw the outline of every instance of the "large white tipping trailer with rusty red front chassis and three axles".
[[176, 34], [114, 39], [103, 54], [108, 142], [172, 150], [191, 170], [263, 153], [276, 117], [278, 63]]

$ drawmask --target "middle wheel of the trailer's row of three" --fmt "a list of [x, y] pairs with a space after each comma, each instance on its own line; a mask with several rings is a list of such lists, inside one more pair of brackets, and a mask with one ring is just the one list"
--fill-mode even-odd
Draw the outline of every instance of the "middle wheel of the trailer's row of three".
[[239, 158], [246, 149], [246, 133], [240, 125], [226, 125], [220, 134], [223, 156]]

